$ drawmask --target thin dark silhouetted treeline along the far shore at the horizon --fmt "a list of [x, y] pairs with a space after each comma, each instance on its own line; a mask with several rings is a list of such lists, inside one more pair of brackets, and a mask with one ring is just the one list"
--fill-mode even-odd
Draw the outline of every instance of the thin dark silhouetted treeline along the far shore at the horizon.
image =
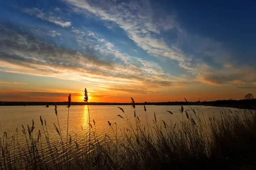
[[[256, 109], [256, 99], [216, 100], [211, 102], [143, 102], [136, 105], [205, 105], [241, 109]], [[0, 106], [67, 105], [67, 102], [0, 102]], [[72, 102], [71, 105], [131, 105], [131, 103]]]

